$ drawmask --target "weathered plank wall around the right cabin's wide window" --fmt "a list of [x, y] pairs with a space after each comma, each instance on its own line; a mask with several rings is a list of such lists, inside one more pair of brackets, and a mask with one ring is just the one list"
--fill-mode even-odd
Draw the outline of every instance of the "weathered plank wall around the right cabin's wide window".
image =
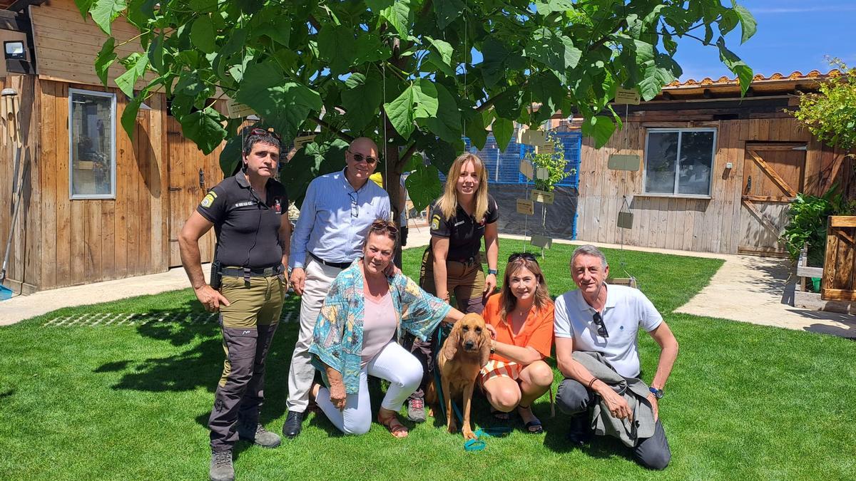
[[[851, 161], [844, 153], [821, 145], [794, 118], [752, 118], [701, 122], [627, 122], [609, 144], [595, 149], [584, 138], [580, 152], [580, 199], [577, 238], [695, 252], [736, 253], [740, 228], [740, 188], [746, 142], [788, 141], [808, 144], [805, 191], [823, 193], [834, 181], [853, 189]], [[637, 172], [607, 169], [610, 154], [645, 156], [648, 128], [716, 128], [711, 199], [642, 195], [642, 165]], [[726, 169], [726, 163], [732, 169]], [[644, 165], [644, 159], [643, 159]], [[626, 194], [633, 211], [633, 229], [615, 226]]]

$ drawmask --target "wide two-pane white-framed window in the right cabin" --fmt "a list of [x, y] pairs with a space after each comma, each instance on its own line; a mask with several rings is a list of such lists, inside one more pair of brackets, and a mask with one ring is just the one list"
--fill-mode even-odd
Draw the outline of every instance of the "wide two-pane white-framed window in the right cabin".
[[715, 128], [650, 128], [645, 144], [645, 193], [710, 196]]

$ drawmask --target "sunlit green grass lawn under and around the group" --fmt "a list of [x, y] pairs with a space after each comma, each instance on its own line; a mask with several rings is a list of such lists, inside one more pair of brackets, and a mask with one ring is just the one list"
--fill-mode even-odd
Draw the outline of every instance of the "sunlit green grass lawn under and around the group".
[[[522, 243], [503, 240], [501, 259]], [[573, 246], [555, 245], [542, 265], [554, 296], [573, 288]], [[405, 252], [417, 276], [422, 249]], [[565, 442], [567, 418], [544, 396], [535, 413], [543, 435], [515, 431], [469, 453], [460, 435], [429, 418], [397, 440], [381, 425], [341, 436], [323, 415], [303, 434], [266, 450], [240, 442], [241, 479], [853, 479], [856, 472], [856, 345], [806, 332], [701, 318], [672, 311], [710, 281], [722, 261], [607, 251], [613, 276], [639, 279], [681, 343], [660, 413], [672, 462], [665, 472], [637, 466], [620, 443], [597, 439], [582, 450]], [[501, 262], [502, 264], [502, 262]], [[623, 269], [622, 269], [623, 264]], [[292, 298], [286, 310], [298, 309]], [[62, 309], [0, 328], [0, 478], [202, 479], [209, 450], [205, 427], [223, 348], [213, 322], [45, 326], [92, 312], [203, 313], [189, 289]], [[296, 313], [282, 324], [268, 359], [262, 422], [280, 432]], [[650, 381], [657, 346], [640, 340]], [[556, 371], [556, 386], [561, 375]], [[377, 409], [379, 396], [373, 396]], [[496, 425], [486, 401], [474, 403], [478, 426]]]

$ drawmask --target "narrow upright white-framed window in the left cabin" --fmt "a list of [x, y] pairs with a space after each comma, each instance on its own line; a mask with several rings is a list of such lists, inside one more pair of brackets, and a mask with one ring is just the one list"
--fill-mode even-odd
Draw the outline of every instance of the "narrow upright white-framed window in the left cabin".
[[116, 94], [68, 89], [71, 199], [116, 198]]

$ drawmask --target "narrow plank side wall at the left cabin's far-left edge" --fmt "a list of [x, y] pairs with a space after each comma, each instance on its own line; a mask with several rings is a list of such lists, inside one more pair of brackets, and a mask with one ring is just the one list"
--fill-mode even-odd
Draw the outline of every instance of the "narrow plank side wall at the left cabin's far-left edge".
[[[39, 237], [41, 190], [38, 187], [39, 171], [39, 118], [38, 82], [33, 75], [9, 75], [0, 79], [0, 89], [11, 87], [18, 92], [21, 111], [18, 116], [21, 131], [21, 165], [25, 168], [21, 207], [15, 223], [15, 235], [12, 238], [12, 250], [9, 252], [9, 264], [6, 280], [3, 282], [15, 293], [32, 293], [39, 285]], [[6, 250], [9, 228], [13, 217], [14, 204], [12, 186], [14, 172], [15, 147], [9, 140], [6, 122], [0, 122], [0, 263]], [[28, 164], [28, 167], [26, 167]]]

